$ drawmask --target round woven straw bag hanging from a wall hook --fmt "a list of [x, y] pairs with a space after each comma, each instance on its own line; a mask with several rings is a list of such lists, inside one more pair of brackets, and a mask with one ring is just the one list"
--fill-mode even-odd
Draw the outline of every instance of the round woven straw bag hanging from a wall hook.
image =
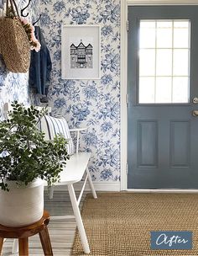
[[18, 19], [9, 18], [8, 5], [14, 13], [14, 0], [7, 0], [6, 17], [0, 18], [0, 53], [9, 71], [23, 73], [29, 71], [30, 45], [29, 38]]

